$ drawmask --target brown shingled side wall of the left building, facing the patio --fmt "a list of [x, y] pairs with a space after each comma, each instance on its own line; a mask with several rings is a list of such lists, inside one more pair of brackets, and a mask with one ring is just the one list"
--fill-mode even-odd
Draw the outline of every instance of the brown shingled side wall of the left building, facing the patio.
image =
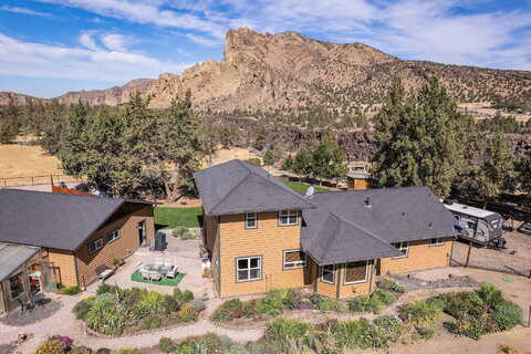
[[[77, 269], [82, 288], [97, 279], [96, 268], [103, 264], [113, 267], [113, 259], [125, 259], [138, 249], [139, 236], [137, 225], [143, 220], [146, 222], [147, 239], [153, 239], [155, 236], [155, 223], [153, 208], [148, 206], [100, 229], [77, 249]], [[111, 232], [118, 229], [121, 230], [119, 238], [110, 241]], [[88, 244], [100, 238], [103, 239], [103, 248], [91, 254]]]

